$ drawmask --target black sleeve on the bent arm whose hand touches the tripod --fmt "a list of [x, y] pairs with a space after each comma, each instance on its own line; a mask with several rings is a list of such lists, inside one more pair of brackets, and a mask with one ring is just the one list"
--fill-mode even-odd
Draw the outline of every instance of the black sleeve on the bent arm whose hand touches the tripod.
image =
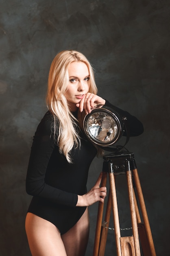
[[[52, 134], [52, 115], [47, 112], [41, 120], [31, 147], [31, 154], [26, 175], [26, 192], [29, 195], [38, 196], [50, 200], [50, 202], [75, 206], [78, 197], [75, 193], [69, 193], [46, 183], [46, 171], [50, 164], [50, 159], [54, 155], [54, 137]], [[55, 166], [57, 170], [57, 159]]]

